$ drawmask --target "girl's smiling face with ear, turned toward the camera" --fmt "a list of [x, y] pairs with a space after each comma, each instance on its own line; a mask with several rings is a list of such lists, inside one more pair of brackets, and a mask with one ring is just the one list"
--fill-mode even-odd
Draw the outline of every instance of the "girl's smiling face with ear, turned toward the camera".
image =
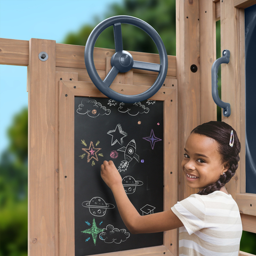
[[196, 133], [189, 135], [181, 166], [190, 188], [206, 188], [228, 170], [217, 149], [218, 142], [214, 139]]

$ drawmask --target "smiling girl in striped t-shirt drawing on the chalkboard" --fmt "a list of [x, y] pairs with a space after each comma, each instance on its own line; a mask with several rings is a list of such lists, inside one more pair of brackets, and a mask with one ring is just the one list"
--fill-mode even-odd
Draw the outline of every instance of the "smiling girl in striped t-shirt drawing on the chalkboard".
[[189, 135], [182, 171], [190, 188], [200, 191], [170, 210], [141, 216], [127, 197], [112, 161], [101, 165], [101, 177], [132, 234], [180, 228], [180, 255], [238, 255], [242, 236], [239, 209], [225, 184], [238, 167], [241, 145], [236, 131], [224, 122], [197, 126]]

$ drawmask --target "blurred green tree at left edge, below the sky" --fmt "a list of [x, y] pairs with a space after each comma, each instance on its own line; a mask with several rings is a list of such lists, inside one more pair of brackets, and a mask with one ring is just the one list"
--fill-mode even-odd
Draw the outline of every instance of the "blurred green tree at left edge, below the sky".
[[28, 109], [14, 116], [0, 159], [0, 255], [25, 256], [28, 243]]

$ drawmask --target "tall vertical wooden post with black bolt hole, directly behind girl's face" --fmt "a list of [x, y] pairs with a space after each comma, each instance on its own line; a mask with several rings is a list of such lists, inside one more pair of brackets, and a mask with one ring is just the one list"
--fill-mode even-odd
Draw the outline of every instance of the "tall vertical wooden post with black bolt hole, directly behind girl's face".
[[[200, 124], [200, 65], [199, 65], [199, 6], [198, 1], [176, 2], [177, 79], [178, 79], [178, 137], [179, 163], [183, 158], [185, 142]], [[196, 73], [190, 66], [196, 65]], [[183, 199], [197, 190], [186, 186], [180, 170], [180, 197]]]

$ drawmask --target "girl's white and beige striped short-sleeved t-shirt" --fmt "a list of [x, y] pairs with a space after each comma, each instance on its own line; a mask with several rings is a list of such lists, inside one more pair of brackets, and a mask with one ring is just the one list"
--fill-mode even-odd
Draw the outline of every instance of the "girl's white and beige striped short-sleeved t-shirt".
[[237, 256], [242, 236], [238, 206], [231, 195], [193, 194], [171, 210], [181, 220], [180, 255]]

